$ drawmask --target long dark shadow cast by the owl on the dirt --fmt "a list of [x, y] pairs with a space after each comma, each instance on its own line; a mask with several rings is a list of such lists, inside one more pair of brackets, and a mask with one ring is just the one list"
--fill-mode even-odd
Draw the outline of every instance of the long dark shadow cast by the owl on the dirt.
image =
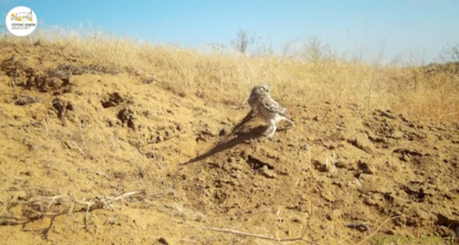
[[196, 156], [194, 157], [193, 159], [190, 159], [184, 163], [180, 163], [179, 165], [187, 165], [187, 164], [190, 164], [190, 163], [193, 163], [193, 162], [197, 162], [197, 161], [201, 161], [201, 160], [204, 160], [216, 153], [219, 153], [219, 152], [222, 152], [224, 150], [228, 150], [236, 145], [239, 145], [239, 144], [242, 144], [242, 143], [245, 143], [249, 140], [252, 140], [252, 139], [256, 139], [256, 138], [260, 138], [261, 135], [263, 134], [263, 132], [265, 132], [266, 130], [266, 126], [258, 126], [256, 128], [253, 128], [247, 132], [241, 132], [240, 129], [242, 128], [242, 126], [244, 124], [246, 124], [248, 121], [250, 121], [252, 118], [254, 118], [253, 116], [253, 112], [250, 111], [249, 113], [247, 113], [247, 115], [241, 120], [241, 122], [239, 124], [237, 124], [233, 130], [231, 131], [231, 133], [229, 134], [229, 136], [231, 135], [235, 135], [235, 138], [230, 140], [230, 141], [225, 141], [225, 142], [220, 142], [218, 143], [217, 145], [215, 145], [211, 150], [209, 150], [208, 152], [204, 153], [204, 154], [201, 154], [199, 156]]

